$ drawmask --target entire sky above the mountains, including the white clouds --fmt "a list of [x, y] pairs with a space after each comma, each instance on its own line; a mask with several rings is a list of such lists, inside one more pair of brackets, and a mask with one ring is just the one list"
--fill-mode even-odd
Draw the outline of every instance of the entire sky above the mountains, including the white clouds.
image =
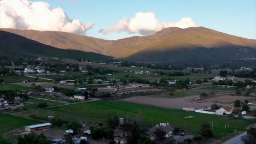
[[[63, 31], [102, 39], [167, 27], [207, 27], [256, 39], [256, 1], [2, 0], [0, 27]], [[43, 3], [42, 3], [43, 2]]]

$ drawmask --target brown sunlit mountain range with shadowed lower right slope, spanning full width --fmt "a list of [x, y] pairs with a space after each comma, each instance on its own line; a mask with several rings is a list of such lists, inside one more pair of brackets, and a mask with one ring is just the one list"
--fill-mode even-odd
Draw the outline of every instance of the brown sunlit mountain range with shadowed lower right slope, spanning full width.
[[256, 40], [205, 27], [165, 28], [146, 37], [103, 40], [66, 32], [0, 29], [59, 49], [94, 52], [136, 62], [224, 62], [255, 58]]

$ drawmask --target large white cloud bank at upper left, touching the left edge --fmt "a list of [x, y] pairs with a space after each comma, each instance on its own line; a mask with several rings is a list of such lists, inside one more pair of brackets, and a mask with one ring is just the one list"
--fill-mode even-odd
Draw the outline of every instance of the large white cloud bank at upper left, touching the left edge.
[[61, 31], [85, 34], [92, 23], [71, 20], [63, 9], [51, 8], [45, 2], [27, 0], [0, 1], [0, 27], [18, 29], [36, 29], [38, 31]]

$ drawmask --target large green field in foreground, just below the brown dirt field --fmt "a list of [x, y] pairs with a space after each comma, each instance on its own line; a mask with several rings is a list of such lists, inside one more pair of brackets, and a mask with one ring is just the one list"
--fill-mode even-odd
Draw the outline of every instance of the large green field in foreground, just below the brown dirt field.
[[[115, 111], [118, 117], [128, 117], [129, 121], [140, 116], [145, 124], [157, 124], [160, 122], [169, 122], [176, 127], [188, 129], [190, 133], [200, 134], [201, 123], [210, 123], [213, 121], [213, 133], [217, 139], [226, 140], [234, 131], [245, 131], [247, 125], [253, 124], [253, 121], [244, 119], [234, 119], [231, 117], [208, 115], [203, 113], [188, 112], [183, 110], [165, 109], [161, 107], [139, 105], [121, 101], [95, 101], [92, 103], [74, 104], [67, 106], [54, 107], [52, 109], [24, 111], [19, 115], [29, 116], [32, 114], [47, 117], [65, 118], [68, 121], [86, 122], [90, 125], [104, 123], [108, 112]], [[185, 118], [193, 116], [193, 118]], [[229, 130], [225, 131], [225, 124], [229, 123]]]

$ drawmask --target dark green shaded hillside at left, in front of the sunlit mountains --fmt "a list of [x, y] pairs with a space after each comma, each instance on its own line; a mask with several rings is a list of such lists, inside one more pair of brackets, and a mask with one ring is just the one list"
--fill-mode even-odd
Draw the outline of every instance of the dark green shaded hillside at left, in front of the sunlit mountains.
[[107, 61], [110, 57], [94, 52], [84, 52], [72, 49], [58, 49], [41, 44], [38, 41], [27, 39], [21, 35], [0, 31], [0, 57], [58, 57], [58, 58], [85, 58], [91, 61]]

